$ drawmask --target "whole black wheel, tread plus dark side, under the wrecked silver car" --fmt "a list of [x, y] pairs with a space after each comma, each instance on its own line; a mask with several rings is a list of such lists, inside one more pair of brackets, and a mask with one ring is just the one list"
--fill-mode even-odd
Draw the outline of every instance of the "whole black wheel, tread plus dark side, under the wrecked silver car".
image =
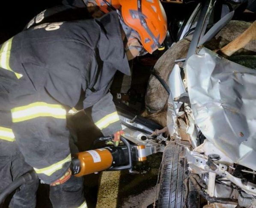
[[189, 171], [185, 158], [182, 158], [182, 151], [183, 146], [175, 142], [168, 144], [164, 149], [158, 208], [200, 207], [201, 197], [188, 181]]

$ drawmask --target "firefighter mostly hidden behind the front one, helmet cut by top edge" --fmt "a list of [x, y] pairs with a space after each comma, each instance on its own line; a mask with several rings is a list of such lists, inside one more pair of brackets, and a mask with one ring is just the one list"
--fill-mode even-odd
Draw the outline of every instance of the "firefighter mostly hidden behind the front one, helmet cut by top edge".
[[[98, 0], [97, 2], [91, 0], [63, 0], [63, 5], [55, 6], [50, 9], [46, 9], [36, 15], [25, 26], [24, 29], [28, 29], [33, 26], [37, 26], [42, 23], [51, 23], [57, 21], [74, 21], [79, 19], [88, 19], [92, 17], [101, 17], [105, 13], [119, 8], [117, 1], [103, 2]], [[111, 5], [110, 3], [114, 4]], [[90, 7], [89, 12], [86, 10], [86, 6]], [[2, 45], [3, 46], [3, 45]], [[1, 79], [0, 97], [2, 95], [6, 97], [8, 94], [8, 86], [10, 86], [10, 77], [14, 76], [10, 71], [0, 71]], [[8, 78], [7, 78], [8, 77]], [[7, 81], [8, 80], [8, 81]], [[7, 89], [7, 90], [6, 90]], [[7, 106], [7, 99], [2, 99], [1, 106]], [[11, 128], [11, 114], [3, 107], [0, 110], [0, 193], [7, 185], [17, 179], [19, 176], [33, 170], [25, 161], [24, 157], [15, 144], [15, 136]], [[118, 132], [119, 133], [119, 132]], [[115, 138], [118, 140], [118, 133], [115, 133]], [[8, 136], [6, 136], [8, 135]], [[2, 139], [2, 142], [1, 142]], [[118, 143], [118, 141], [116, 141]], [[78, 152], [77, 147], [74, 145], [74, 139], [70, 136], [69, 145], [72, 153]], [[6, 174], [9, 173], [9, 174]], [[81, 181], [77, 184], [81, 184]], [[9, 207], [34, 207], [36, 204], [36, 190], [38, 188], [38, 180], [31, 181], [25, 185], [22, 185], [11, 198], [6, 200], [4, 206], [9, 204]], [[51, 193], [53, 189], [51, 189]], [[56, 194], [56, 193], [55, 193]], [[54, 194], [51, 194], [54, 195]], [[0, 205], [1, 207], [1, 205]]]

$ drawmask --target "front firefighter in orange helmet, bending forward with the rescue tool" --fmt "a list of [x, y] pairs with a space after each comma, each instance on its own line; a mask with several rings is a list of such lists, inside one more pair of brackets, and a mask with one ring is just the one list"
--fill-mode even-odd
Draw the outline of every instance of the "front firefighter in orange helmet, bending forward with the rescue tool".
[[[0, 110], [10, 110], [12, 118], [7, 128], [0, 114], [6, 128], [0, 131], [1, 148], [15, 140], [41, 182], [51, 186], [54, 207], [87, 207], [82, 179], [71, 176], [66, 112], [82, 100], [83, 108], [92, 108], [102, 134], [115, 134], [119, 140], [122, 128], [109, 92], [113, 76], [116, 70], [129, 75], [128, 60], [155, 51], [167, 33], [158, 0], [119, 3], [117, 12], [101, 18], [43, 23], [0, 46], [0, 71], [13, 75], [10, 79], [0, 72]], [[1, 174], [3, 179], [10, 172]], [[26, 197], [23, 202], [13, 206], [35, 206]]]

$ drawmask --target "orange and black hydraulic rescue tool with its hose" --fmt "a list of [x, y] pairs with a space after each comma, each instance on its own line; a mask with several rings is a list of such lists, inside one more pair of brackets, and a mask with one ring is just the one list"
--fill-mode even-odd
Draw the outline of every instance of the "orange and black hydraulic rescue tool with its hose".
[[[101, 141], [110, 141], [113, 136], [98, 138], [95, 143]], [[98, 173], [102, 170], [125, 170], [132, 171], [133, 161], [146, 160], [145, 145], [131, 145], [124, 137], [121, 136], [122, 146], [107, 146], [100, 149], [79, 152], [72, 155], [71, 170], [74, 176], [80, 177], [91, 173]], [[94, 143], [94, 144], [95, 144]], [[0, 193], [0, 204], [12, 191], [24, 183], [29, 182], [37, 177], [34, 171], [30, 171], [16, 179], [5, 191]]]

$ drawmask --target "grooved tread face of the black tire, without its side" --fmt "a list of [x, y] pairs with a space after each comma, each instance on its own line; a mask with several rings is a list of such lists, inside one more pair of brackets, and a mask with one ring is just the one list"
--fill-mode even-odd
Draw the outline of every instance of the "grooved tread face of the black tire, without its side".
[[168, 144], [163, 153], [158, 208], [183, 208], [185, 203], [185, 158], [182, 146]]

